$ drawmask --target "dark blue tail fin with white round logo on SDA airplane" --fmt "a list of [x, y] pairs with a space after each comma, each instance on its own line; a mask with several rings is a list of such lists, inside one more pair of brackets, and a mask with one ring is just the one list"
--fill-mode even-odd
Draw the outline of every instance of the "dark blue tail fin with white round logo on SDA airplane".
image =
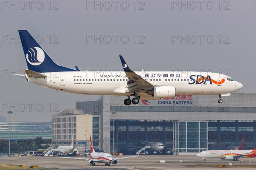
[[29, 70], [39, 73], [77, 71], [56, 64], [27, 30], [19, 30], [20, 40]]

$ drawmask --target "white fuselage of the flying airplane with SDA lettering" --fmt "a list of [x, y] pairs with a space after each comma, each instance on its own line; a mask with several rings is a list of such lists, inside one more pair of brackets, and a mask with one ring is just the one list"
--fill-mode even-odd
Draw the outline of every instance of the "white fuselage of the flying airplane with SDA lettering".
[[[176, 95], [219, 95], [230, 94], [242, 88], [241, 83], [219, 73], [207, 72], [170, 72], [145, 71], [136, 72], [143, 79], [156, 86], [172, 86]], [[124, 71], [70, 71], [42, 73], [45, 78], [27, 77], [29, 82], [55, 90], [87, 95], [123, 95], [128, 78]], [[150, 90], [150, 89], [145, 89]], [[138, 96], [154, 99], [145, 92]]]

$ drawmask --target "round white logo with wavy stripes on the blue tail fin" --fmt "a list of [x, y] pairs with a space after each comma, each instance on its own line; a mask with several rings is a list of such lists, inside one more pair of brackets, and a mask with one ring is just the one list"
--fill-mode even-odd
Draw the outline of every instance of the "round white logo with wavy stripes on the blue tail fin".
[[26, 60], [31, 65], [40, 65], [44, 61], [44, 51], [39, 47], [32, 47], [26, 54]]

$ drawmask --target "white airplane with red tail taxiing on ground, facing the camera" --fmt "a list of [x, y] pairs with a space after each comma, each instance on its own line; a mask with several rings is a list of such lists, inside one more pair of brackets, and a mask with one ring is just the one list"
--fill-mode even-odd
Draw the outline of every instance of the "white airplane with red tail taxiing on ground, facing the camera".
[[[137, 155], [138, 156], [138, 155]], [[105, 166], [110, 166], [110, 164], [117, 164], [118, 159], [126, 159], [126, 158], [134, 158], [137, 156], [128, 156], [128, 157], [120, 157], [120, 158], [114, 158], [109, 153], [102, 153], [102, 152], [95, 152], [93, 149], [93, 142], [90, 136], [90, 159], [86, 158], [68, 158], [68, 157], [61, 157], [61, 158], [67, 158], [67, 159], [80, 159], [80, 160], [88, 160], [89, 164], [92, 166], [95, 166], [95, 162], [99, 163], [105, 163]]]

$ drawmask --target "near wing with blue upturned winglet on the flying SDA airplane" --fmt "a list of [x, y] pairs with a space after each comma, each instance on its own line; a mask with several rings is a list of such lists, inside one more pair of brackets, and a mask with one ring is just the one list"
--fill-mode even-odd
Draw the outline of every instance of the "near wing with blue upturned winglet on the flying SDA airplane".
[[136, 91], [136, 90], [149, 90], [154, 88], [155, 86], [151, 84], [150, 82], [146, 81], [140, 75], [136, 74], [134, 71], [132, 71], [128, 65], [126, 64], [125, 60], [123, 57], [120, 55], [119, 56], [121, 59], [122, 67], [125, 71], [125, 74], [127, 78], [129, 79], [128, 85], [125, 87], [127, 90], [125, 91], [126, 93], [131, 92], [131, 91]]

